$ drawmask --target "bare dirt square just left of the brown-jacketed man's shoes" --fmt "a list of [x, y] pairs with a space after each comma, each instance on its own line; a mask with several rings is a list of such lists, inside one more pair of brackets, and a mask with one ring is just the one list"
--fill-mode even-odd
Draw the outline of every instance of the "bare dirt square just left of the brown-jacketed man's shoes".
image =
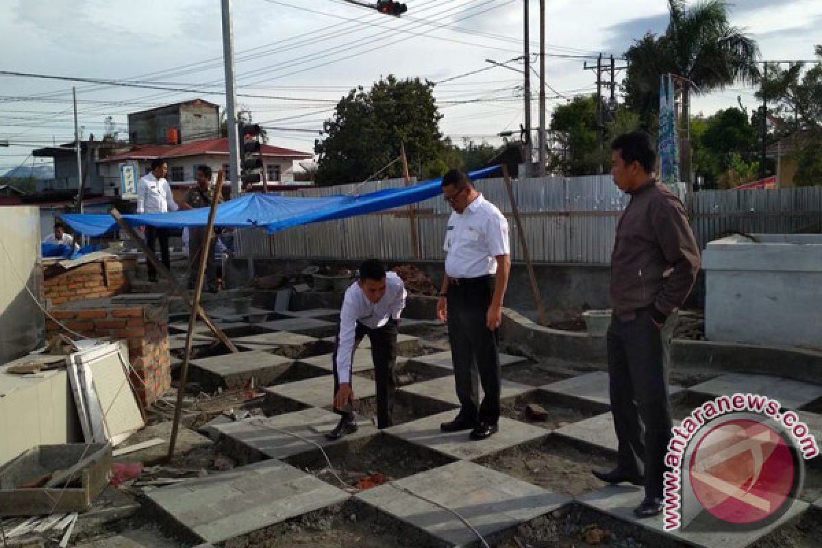
[[605, 486], [603, 481], [593, 477], [591, 469], [612, 467], [613, 458], [577, 449], [548, 436], [505, 449], [480, 459], [478, 463], [534, 485], [576, 496]]

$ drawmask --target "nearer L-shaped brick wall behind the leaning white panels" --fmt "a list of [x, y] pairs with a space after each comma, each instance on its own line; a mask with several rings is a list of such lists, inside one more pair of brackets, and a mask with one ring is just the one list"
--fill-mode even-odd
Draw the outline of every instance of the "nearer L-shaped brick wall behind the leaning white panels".
[[[55, 308], [56, 320], [86, 337], [125, 339], [132, 368], [132, 385], [143, 406], [154, 403], [171, 386], [169, 361], [169, 311], [167, 306], [107, 306]], [[46, 320], [46, 332], [61, 331]], [[139, 379], [135, 378], [139, 375]]]

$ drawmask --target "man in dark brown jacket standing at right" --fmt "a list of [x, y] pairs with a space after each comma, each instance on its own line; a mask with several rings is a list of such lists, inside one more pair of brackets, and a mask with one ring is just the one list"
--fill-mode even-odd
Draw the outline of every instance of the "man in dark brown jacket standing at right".
[[612, 144], [611, 174], [630, 203], [617, 225], [611, 256], [613, 317], [607, 332], [611, 412], [617, 467], [593, 474], [608, 483], [645, 486], [640, 518], [663, 509], [663, 473], [671, 437], [668, 347], [700, 268], [700, 251], [685, 208], [656, 182], [650, 137], [635, 131]]

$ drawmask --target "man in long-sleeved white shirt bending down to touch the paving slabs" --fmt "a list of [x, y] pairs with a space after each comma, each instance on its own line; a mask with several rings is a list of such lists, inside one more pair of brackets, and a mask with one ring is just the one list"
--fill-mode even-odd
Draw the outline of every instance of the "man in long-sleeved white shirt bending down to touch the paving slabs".
[[377, 260], [367, 260], [359, 269], [359, 280], [345, 291], [339, 312], [339, 334], [334, 349], [334, 412], [339, 424], [326, 434], [339, 440], [357, 431], [353, 412], [352, 361], [363, 337], [371, 340], [376, 381], [376, 421], [379, 428], [393, 426], [396, 388], [394, 365], [397, 359], [397, 328], [405, 307], [405, 285], [393, 272], [386, 273]]

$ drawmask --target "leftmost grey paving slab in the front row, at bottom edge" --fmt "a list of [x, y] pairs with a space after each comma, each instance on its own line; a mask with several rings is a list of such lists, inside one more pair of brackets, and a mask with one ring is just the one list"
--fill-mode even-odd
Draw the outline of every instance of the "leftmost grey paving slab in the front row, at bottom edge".
[[345, 491], [276, 460], [184, 481], [147, 496], [208, 542], [227, 541], [349, 498]]

